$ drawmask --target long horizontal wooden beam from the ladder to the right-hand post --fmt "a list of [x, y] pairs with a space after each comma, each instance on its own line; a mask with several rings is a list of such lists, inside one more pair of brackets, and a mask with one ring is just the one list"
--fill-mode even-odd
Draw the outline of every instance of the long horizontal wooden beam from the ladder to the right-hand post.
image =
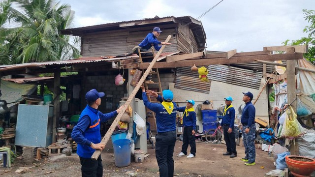
[[[234, 64], [234, 63], [248, 63], [253, 62], [255, 59], [265, 60], [265, 61], [276, 61], [276, 60], [292, 60], [292, 59], [303, 59], [302, 53], [293, 54], [274, 54], [274, 55], [260, 55], [260, 56], [246, 56], [246, 57], [231, 57], [230, 59], [218, 58], [218, 59], [193, 59], [193, 60], [182, 60], [176, 62], [158, 62], [154, 65], [154, 68], [174, 68], [174, 67], [184, 67], [184, 66], [203, 66], [210, 64]], [[148, 68], [150, 63], [138, 63], [125, 65], [125, 68]]]

